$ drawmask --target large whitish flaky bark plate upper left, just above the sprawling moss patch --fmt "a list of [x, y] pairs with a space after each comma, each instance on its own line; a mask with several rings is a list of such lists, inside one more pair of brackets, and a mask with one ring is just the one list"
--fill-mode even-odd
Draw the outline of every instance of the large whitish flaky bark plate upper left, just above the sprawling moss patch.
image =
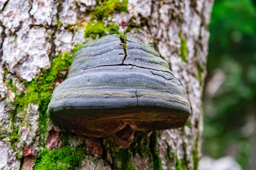
[[50, 68], [48, 51], [50, 48], [45, 28], [33, 27], [29, 31], [23, 25], [17, 37], [6, 37], [3, 42], [3, 63], [12, 74], [31, 81], [41, 69]]

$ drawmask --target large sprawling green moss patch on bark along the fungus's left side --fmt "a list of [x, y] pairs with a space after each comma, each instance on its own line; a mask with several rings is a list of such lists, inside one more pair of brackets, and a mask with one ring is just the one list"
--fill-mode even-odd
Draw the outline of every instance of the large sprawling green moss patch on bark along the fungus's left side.
[[[77, 46], [71, 52], [72, 54], [81, 48], [82, 45]], [[46, 114], [48, 104], [51, 100], [52, 92], [55, 87], [56, 79], [64, 79], [65, 77], [58, 77], [60, 71], [68, 70], [71, 65], [72, 59], [69, 53], [59, 54], [51, 59], [51, 68], [44, 71], [37, 79], [33, 79], [31, 82], [23, 82], [27, 88], [26, 93], [22, 93], [20, 96], [16, 95], [15, 105], [16, 111], [22, 112], [24, 108], [27, 108], [29, 103], [38, 104], [39, 122], [40, 122], [40, 134], [42, 139], [47, 136], [47, 124], [49, 118]], [[12, 81], [9, 81], [9, 87], [16, 93], [16, 89], [12, 85]], [[15, 111], [15, 112], [16, 112]], [[17, 128], [17, 127], [15, 127]], [[17, 130], [15, 130], [16, 132]]]

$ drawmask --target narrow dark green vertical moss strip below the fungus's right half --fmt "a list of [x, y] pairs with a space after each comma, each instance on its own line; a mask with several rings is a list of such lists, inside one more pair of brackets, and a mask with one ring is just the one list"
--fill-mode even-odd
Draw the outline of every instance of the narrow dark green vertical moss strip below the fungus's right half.
[[162, 170], [161, 158], [159, 157], [159, 150], [157, 147], [157, 138], [159, 135], [158, 131], [153, 131], [150, 136], [150, 150], [153, 157], [154, 170]]

